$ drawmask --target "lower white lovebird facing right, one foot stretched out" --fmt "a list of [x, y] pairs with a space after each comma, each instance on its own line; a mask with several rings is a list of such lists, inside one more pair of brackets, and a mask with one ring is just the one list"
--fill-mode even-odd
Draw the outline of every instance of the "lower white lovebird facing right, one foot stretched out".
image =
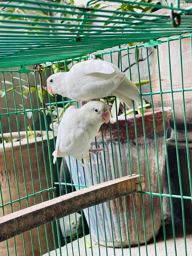
[[53, 164], [57, 157], [73, 156], [82, 164], [89, 162], [89, 153], [98, 153], [105, 148], [90, 149], [91, 141], [97, 135], [101, 124], [108, 123], [110, 112], [108, 105], [92, 100], [81, 108], [70, 106], [65, 111], [57, 134]]

